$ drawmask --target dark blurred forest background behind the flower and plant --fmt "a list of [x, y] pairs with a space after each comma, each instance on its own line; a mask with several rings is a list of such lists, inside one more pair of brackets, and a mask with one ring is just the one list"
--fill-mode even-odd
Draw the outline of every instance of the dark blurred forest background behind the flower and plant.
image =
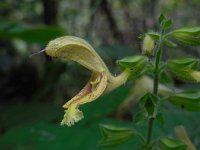
[[[62, 104], [85, 85], [90, 72], [44, 53], [30, 55], [56, 37], [74, 35], [89, 41], [117, 74], [116, 60], [141, 53], [139, 36], [158, 29], [161, 12], [173, 20], [173, 29], [200, 25], [200, 0], [1, 0], [0, 149], [106, 149], [97, 146], [98, 124], [133, 125], [137, 104], [121, 115], [118, 108], [135, 82], [83, 106], [85, 119], [76, 126], [60, 127]], [[183, 56], [199, 58], [199, 47], [168, 48], [163, 59]], [[172, 78], [179, 88], [200, 88]], [[170, 112], [156, 135], [173, 136], [174, 126], [183, 124], [200, 145], [199, 113], [166, 107]], [[135, 145], [130, 141], [114, 149]]]

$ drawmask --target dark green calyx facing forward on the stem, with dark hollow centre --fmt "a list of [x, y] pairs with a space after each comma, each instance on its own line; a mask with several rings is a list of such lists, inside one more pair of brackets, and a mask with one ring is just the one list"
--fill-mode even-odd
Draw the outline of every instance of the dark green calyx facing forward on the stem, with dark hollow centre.
[[152, 93], [146, 93], [141, 99], [140, 104], [149, 118], [155, 117], [157, 113], [157, 97]]

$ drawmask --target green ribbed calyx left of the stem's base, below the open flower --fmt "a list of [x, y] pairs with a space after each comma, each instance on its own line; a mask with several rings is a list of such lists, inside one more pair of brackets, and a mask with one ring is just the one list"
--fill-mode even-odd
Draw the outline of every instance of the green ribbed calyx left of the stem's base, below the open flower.
[[101, 125], [103, 139], [100, 146], [117, 146], [132, 139], [134, 131], [131, 128]]

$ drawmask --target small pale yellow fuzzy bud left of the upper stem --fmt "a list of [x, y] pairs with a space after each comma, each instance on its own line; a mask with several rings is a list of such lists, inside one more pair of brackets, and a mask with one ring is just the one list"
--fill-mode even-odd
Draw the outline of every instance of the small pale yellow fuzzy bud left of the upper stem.
[[142, 52], [146, 56], [151, 56], [153, 54], [154, 49], [154, 40], [149, 35], [145, 35], [143, 44], [142, 44]]

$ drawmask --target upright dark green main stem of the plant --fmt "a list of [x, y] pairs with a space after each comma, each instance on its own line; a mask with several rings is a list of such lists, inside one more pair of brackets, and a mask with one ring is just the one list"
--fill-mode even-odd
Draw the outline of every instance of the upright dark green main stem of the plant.
[[[156, 61], [155, 61], [155, 69], [154, 69], [154, 86], [153, 86], [153, 94], [158, 96], [158, 85], [159, 85], [159, 76], [160, 76], [160, 59], [162, 54], [162, 43], [163, 43], [163, 33], [164, 30], [161, 29], [160, 32], [160, 38], [158, 41], [158, 45], [156, 47]], [[152, 132], [153, 132], [153, 125], [154, 125], [154, 117], [150, 118], [148, 121], [148, 131], [147, 131], [147, 148], [150, 150], [150, 144], [151, 144], [151, 138], [152, 138]]]

